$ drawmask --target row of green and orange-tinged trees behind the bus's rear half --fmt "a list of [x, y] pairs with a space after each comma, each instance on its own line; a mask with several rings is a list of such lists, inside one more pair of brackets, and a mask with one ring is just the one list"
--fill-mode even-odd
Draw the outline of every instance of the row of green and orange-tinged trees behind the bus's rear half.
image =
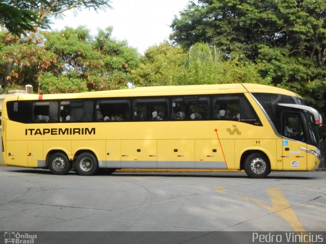
[[[42, 93], [126, 88], [127, 74], [138, 66], [139, 54], [111, 33], [108, 28], [92, 37], [83, 26], [23, 39], [0, 33], [0, 75], [10, 86], [33, 84]], [[12, 66], [9, 73], [8, 64]], [[53, 77], [64, 84], [47, 84]]]

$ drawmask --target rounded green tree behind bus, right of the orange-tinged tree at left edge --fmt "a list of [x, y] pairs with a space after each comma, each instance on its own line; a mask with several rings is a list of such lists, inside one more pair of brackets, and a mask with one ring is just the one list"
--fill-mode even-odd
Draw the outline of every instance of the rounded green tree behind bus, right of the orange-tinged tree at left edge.
[[[138, 65], [137, 50], [112, 38], [112, 27], [92, 37], [83, 26], [61, 32], [44, 32], [46, 51], [56, 56], [44, 74], [38, 75], [43, 93], [67, 93], [127, 87], [127, 74]], [[56, 77], [60, 84], [53, 85]], [[77, 82], [78, 80], [78, 82]]]

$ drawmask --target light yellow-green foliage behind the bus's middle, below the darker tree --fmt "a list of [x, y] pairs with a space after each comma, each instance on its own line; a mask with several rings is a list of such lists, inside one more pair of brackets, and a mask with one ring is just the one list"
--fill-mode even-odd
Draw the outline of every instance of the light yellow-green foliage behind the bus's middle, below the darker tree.
[[222, 83], [264, 83], [270, 78], [259, 75], [259, 66], [241, 63], [238, 59], [224, 60], [219, 51], [197, 43], [189, 51], [162, 43], [149, 48], [139, 67], [130, 73], [137, 86], [193, 85]]

